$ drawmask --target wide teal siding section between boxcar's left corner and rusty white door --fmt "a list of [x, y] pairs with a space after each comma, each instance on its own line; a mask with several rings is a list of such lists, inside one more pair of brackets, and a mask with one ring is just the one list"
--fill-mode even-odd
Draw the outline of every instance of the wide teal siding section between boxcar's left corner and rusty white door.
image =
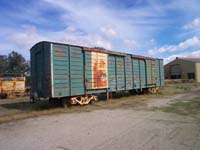
[[83, 52], [79, 47], [53, 45], [53, 96], [84, 95]]

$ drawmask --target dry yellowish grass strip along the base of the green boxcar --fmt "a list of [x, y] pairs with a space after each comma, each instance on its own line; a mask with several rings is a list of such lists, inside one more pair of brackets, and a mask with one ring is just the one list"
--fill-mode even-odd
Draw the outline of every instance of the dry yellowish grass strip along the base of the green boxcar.
[[[52, 115], [58, 113], [80, 113], [80, 112], [90, 112], [98, 109], [144, 109], [146, 108], [146, 101], [149, 99], [155, 98], [163, 98], [168, 97], [169, 95], [177, 94], [177, 93], [185, 93], [189, 92], [192, 89], [196, 88], [197, 84], [170, 84], [166, 85], [166, 87], [162, 88], [157, 94], [145, 94], [145, 95], [136, 95], [131, 96], [130, 94], [121, 95], [124, 97], [118, 97], [115, 99], [110, 99], [108, 101], [98, 101], [94, 102], [92, 105], [86, 106], [72, 106], [70, 108], [50, 108], [48, 105], [48, 101], [39, 101], [37, 103], [30, 102], [20, 102], [20, 103], [12, 103], [12, 104], [3, 104], [0, 107], [6, 108], [10, 112], [8, 115], [0, 116], [0, 123], [8, 122], [12, 120], [25, 119], [30, 117], [38, 117], [42, 115]], [[199, 106], [199, 105], [198, 105]], [[191, 109], [190, 107], [184, 104], [175, 104], [171, 106], [171, 108], [163, 108], [163, 111], [171, 111], [176, 112], [179, 111], [179, 108], [184, 108], [186, 110]], [[178, 110], [177, 110], [178, 109]], [[199, 114], [200, 117], [200, 114]]]

